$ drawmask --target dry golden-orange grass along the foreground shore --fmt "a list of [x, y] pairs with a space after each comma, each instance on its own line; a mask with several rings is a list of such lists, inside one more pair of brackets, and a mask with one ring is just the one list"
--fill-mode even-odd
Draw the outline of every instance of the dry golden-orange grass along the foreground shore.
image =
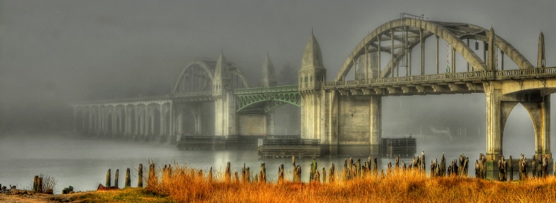
[[429, 178], [407, 171], [341, 180], [336, 173], [338, 181], [334, 183], [309, 184], [291, 182], [288, 177], [281, 183], [239, 182], [233, 172], [229, 182], [224, 181], [222, 173], [211, 180], [208, 173], [186, 166], [173, 167], [171, 174], [167, 170], [162, 173], [160, 181], [147, 186], [147, 191], [177, 202], [556, 202], [554, 177], [493, 182], [467, 177]]

